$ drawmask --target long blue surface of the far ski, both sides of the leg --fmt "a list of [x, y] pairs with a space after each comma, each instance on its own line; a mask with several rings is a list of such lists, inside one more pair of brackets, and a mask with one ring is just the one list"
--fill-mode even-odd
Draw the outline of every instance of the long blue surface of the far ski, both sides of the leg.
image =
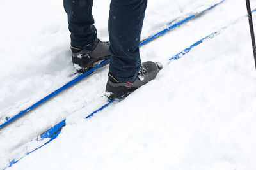
[[[220, 1], [220, 3], [222, 3], [224, 0]], [[153, 36], [150, 36], [149, 38], [145, 39], [144, 41], [142, 41], [140, 43], [139, 46], [145, 45], [146, 43], [148, 43], [149, 41], [152, 41], [156, 38], [158, 38], [159, 36], [161, 36], [162, 34], [164, 34], [165, 32], [168, 32], [170, 30], [172, 30], [175, 27], [178, 27], [179, 25], [183, 24], [184, 22], [190, 20], [191, 18], [194, 18], [198, 15], [201, 15], [202, 13], [204, 13], [205, 11], [211, 10], [212, 8], [214, 8], [215, 6], [217, 6], [218, 4], [214, 4], [212, 6], [210, 6], [209, 8], [200, 11], [199, 13], [194, 13], [189, 15], [186, 18], [183, 18], [182, 20], [179, 20], [177, 22], [175, 22], [175, 24], [172, 24], [173, 22], [170, 22], [168, 25], [170, 25], [170, 27], [163, 29], [162, 31], [157, 32], [156, 34], [154, 34]], [[54, 92], [52, 92], [51, 94], [49, 94], [48, 96], [44, 97], [43, 99], [41, 99], [40, 101], [36, 102], [35, 104], [33, 104], [32, 106], [30, 106], [29, 108], [27, 108], [26, 110], [20, 111], [20, 113], [18, 113], [17, 115], [13, 116], [12, 118], [8, 118], [6, 117], [6, 122], [4, 122], [3, 124], [0, 125], [0, 129], [2, 127], [4, 127], [5, 125], [9, 124], [10, 122], [12, 122], [13, 120], [19, 118], [20, 116], [24, 115], [25, 113], [27, 113], [28, 111], [32, 110], [33, 108], [35, 108], [36, 106], [39, 106], [40, 104], [44, 103], [45, 101], [47, 101], [48, 99], [51, 99], [51, 97], [56, 96], [56, 94], [59, 94], [60, 92], [62, 92], [63, 90], [67, 89], [68, 87], [74, 85], [75, 83], [77, 83], [77, 81], [82, 80], [83, 78], [85, 78], [86, 76], [88, 76], [89, 74], [91, 74], [93, 71], [95, 71], [95, 69], [98, 69], [100, 66], [104, 65], [106, 62], [108, 62], [109, 60], [106, 60], [105, 62], [99, 64], [98, 66], [93, 67], [92, 69], [90, 69], [88, 72], [81, 74], [79, 76], [77, 76], [76, 78], [74, 78], [74, 80], [68, 82], [67, 84], [63, 85], [63, 87], [60, 87], [60, 89], [55, 90]]]

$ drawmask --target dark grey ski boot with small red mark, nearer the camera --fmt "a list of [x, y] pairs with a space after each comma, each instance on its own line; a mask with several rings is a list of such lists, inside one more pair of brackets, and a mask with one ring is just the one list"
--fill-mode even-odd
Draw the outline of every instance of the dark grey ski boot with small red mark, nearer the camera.
[[148, 81], [154, 80], [161, 69], [163, 69], [163, 65], [159, 62], [143, 62], [138, 76], [130, 82], [119, 82], [111, 74], [108, 74], [106, 96], [110, 100], [127, 97], [131, 92], [148, 83]]

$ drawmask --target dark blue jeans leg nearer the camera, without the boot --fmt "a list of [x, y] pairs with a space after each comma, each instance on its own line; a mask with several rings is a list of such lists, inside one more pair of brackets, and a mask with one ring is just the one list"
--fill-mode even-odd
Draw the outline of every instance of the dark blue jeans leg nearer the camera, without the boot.
[[138, 45], [146, 7], [147, 0], [111, 0], [109, 74], [118, 81], [131, 81], [138, 76], [141, 67]]

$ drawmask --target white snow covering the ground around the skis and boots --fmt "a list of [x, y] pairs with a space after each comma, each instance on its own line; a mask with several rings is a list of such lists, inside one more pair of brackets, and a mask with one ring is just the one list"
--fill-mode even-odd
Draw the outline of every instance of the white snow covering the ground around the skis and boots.
[[[68, 80], [72, 62], [62, 1], [2, 0], [0, 120], [24, 110]], [[142, 37], [216, 0], [148, 1]], [[256, 8], [256, 1], [251, 1]], [[95, 1], [99, 38], [108, 40], [109, 1]], [[246, 14], [225, 0], [141, 48], [164, 64]], [[255, 18], [256, 15], [253, 15]], [[256, 22], [256, 19], [255, 21]], [[89, 120], [106, 102], [108, 67], [0, 130], [0, 169], [16, 148], [67, 117], [57, 139], [10, 169], [256, 169], [256, 71], [248, 20], [171, 62], [156, 80]]]

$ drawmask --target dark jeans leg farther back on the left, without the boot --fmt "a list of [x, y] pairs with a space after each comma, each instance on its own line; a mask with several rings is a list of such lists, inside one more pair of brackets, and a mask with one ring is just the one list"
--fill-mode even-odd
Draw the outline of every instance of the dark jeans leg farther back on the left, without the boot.
[[93, 0], [64, 0], [63, 3], [68, 15], [71, 46], [91, 50], [98, 42], [97, 29], [93, 25]]

